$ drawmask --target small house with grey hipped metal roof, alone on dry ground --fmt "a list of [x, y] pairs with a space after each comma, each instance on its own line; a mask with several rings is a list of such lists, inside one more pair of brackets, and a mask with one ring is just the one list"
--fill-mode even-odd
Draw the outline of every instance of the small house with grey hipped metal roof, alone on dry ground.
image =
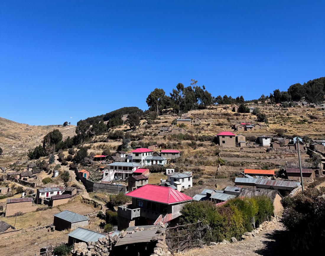
[[89, 218], [72, 211], [61, 211], [54, 214], [53, 225], [55, 230], [76, 229], [88, 225]]

